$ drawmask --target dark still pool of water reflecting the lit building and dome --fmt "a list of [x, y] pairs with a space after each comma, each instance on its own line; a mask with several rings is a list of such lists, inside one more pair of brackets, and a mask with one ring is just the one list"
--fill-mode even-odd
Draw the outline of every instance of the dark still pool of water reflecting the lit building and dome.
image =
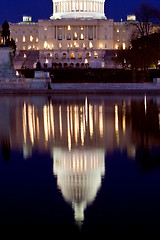
[[0, 97], [0, 227], [159, 232], [160, 97]]

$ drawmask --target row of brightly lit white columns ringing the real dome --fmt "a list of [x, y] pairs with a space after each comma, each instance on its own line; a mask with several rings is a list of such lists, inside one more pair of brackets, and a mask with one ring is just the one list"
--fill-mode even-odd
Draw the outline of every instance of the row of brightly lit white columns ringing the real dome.
[[95, 12], [104, 13], [104, 2], [102, 1], [58, 1], [53, 2], [53, 15], [65, 12]]

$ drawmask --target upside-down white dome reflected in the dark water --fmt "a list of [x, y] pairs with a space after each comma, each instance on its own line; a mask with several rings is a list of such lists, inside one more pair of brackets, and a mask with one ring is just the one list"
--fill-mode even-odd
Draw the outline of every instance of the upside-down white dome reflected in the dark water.
[[72, 203], [75, 220], [84, 220], [84, 210], [91, 204], [104, 175], [103, 150], [53, 150], [53, 172], [64, 199]]

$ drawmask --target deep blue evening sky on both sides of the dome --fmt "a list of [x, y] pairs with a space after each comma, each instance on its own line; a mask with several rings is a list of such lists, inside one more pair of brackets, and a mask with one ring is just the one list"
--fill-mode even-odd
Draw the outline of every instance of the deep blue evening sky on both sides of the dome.
[[[115, 21], [125, 20], [142, 2], [160, 8], [160, 0], [106, 0], [106, 16]], [[52, 0], [0, 0], [0, 24], [4, 20], [19, 22], [23, 15], [31, 15], [34, 21], [48, 19], [52, 15]]]

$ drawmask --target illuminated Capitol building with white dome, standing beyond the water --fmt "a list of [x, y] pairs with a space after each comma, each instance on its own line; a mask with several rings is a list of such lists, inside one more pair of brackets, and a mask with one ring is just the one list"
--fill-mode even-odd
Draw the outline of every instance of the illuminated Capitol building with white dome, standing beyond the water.
[[16, 41], [15, 68], [35, 68], [37, 61], [47, 67], [113, 67], [113, 50], [130, 44], [135, 16], [114, 22], [104, 13], [104, 0], [52, 0], [53, 15], [33, 22], [10, 23]]

